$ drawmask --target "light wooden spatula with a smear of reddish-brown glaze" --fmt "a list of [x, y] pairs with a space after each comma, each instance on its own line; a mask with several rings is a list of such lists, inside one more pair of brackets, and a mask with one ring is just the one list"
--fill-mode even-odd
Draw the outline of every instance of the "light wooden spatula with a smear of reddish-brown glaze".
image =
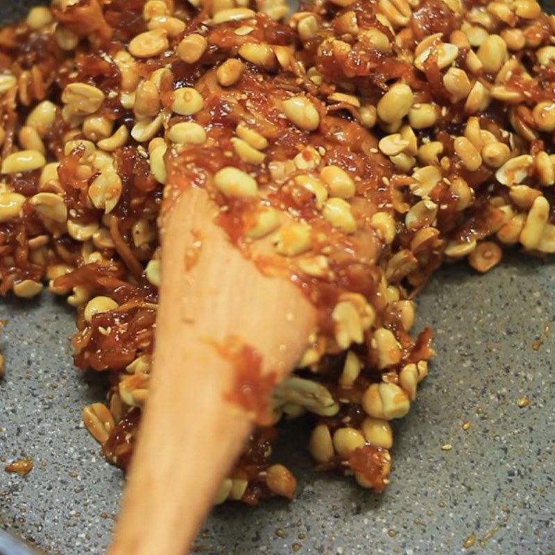
[[[162, 285], [150, 396], [109, 555], [183, 555], [253, 427], [228, 399], [234, 338], [284, 377], [316, 311], [284, 278], [268, 278], [214, 223], [201, 189], [183, 191], [162, 230]], [[220, 348], [219, 348], [220, 345]]]

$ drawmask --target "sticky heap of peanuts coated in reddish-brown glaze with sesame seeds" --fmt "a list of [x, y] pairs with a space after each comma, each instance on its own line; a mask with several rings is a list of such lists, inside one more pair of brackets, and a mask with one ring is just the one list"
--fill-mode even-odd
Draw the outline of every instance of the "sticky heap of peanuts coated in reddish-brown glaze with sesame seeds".
[[[121, 1], [54, 0], [0, 38], [0, 292], [47, 284], [78, 309], [76, 364], [115, 376], [85, 425], [127, 466], [157, 217], [205, 187], [239, 248], [320, 312], [274, 423], [311, 415], [317, 467], [383, 490], [390, 421], [433, 354], [429, 330], [410, 335], [413, 296], [444, 260], [555, 252], [555, 17], [535, 0], [314, 0], [284, 24], [281, 0], [147, 0], [130, 30]], [[16, 36], [24, 64], [3, 49]], [[293, 495], [274, 436], [255, 431], [216, 502]]]

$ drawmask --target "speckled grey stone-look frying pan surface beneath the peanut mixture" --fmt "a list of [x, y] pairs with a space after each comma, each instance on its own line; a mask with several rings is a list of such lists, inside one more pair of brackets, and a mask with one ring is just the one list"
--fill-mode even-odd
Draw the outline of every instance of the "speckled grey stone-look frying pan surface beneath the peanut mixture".
[[[0, 4], [5, 20], [28, 8], [18, 0]], [[434, 327], [437, 355], [409, 416], [394, 422], [386, 493], [314, 472], [305, 449], [309, 428], [302, 420], [287, 422], [275, 459], [295, 471], [296, 499], [217, 507], [198, 549], [208, 555], [555, 553], [555, 330], [545, 333], [555, 326], [554, 270], [549, 259], [515, 251], [486, 275], [455, 264], [433, 278], [418, 300], [418, 325]], [[73, 311], [45, 293], [39, 302], [2, 300], [0, 318], [8, 320], [0, 345], [7, 368], [0, 382], [0, 461], [30, 456], [34, 463], [26, 477], [0, 467], [0, 528], [37, 552], [101, 555], [123, 475], [103, 461], [81, 424], [81, 408], [103, 398], [103, 384], [71, 364]], [[529, 404], [520, 407], [525, 397]], [[28, 553], [0, 533], [0, 555]]]

